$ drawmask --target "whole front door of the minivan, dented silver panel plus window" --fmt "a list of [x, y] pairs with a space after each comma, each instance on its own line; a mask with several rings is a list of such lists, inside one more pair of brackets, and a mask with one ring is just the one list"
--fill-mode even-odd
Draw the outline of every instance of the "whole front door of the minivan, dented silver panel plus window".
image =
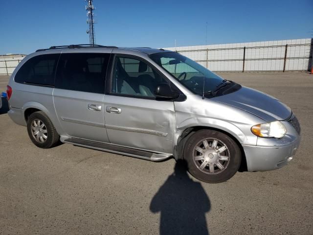
[[156, 86], [168, 82], [141, 59], [115, 56], [112, 81], [104, 99], [105, 126], [111, 143], [173, 152], [174, 102], [156, 100], [154, 96]]

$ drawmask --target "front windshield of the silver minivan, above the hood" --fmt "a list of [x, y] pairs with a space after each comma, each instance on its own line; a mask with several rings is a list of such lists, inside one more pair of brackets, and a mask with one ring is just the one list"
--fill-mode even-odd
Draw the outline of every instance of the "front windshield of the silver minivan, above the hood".
[[150, 58], [194, 94], [211, 92], [224, 80], [177, 52], [155, 53]]

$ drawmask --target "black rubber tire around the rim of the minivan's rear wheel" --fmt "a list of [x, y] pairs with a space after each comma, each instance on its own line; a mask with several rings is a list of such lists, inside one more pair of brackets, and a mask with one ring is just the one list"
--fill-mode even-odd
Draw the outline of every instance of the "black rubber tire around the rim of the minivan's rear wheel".
[[[40, 120], [45, 124], [45, 130], [46, 130], [46, 136], [47, 138], [45, 139], [44, 142], [42, 141], [37, 141], [35, 136], [32, 133], [32, 124], [34, 120]], [[46, 116], [46, 114], [42, 111], [38, 111], [35, 113], [32, 113], [27, 120], [27, 132], [30, 140], [40, 148], [51, 148], [55, 146], [59, 140], [60, 136], [57, 133], [56, 129], [54, 128], [51, 120]]]

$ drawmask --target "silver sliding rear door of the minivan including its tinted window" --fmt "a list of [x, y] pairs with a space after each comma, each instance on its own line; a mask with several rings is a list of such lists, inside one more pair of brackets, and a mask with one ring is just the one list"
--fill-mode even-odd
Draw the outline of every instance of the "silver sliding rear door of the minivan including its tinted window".
[[110, 53], [62, 53], [53, 101], [68, 136], [109, 142], [104, 125], [105, 77]]

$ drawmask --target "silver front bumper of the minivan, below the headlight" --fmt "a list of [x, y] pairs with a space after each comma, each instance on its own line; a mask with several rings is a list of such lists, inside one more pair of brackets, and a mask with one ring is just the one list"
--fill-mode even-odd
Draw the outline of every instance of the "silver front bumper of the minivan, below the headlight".
[[300, 145], [301, 137], [287, 145], [252, 146], [242, 145], [246, 154], [248, 171], [275, 170], [287, 165]]

